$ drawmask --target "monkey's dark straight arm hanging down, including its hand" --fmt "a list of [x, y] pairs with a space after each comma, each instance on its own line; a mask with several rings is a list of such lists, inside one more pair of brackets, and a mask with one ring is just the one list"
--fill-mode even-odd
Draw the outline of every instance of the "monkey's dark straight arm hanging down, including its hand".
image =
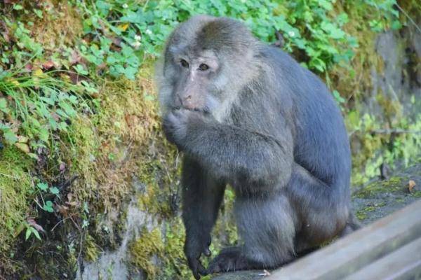
[[186, 229], [185, 254], [194, 277], [206, 274], [201, 254], [210, 255], [210, 231], [218, 216], [225, 183], [213, 180], [187, 156], [182, 168], [182, 220]]

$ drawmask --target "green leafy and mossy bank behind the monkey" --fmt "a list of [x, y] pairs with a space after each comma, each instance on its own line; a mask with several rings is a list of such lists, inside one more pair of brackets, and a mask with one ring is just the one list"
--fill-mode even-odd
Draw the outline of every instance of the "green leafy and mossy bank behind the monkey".
[[[123, 230], [121, 204], [132, 193], [133, 176], [146, 184], [140, 209], [166, 229], [142, 232], [132, 242], [133, 264], [149, 278], [190, 275], [176, 215], [178, 155], [159, 130], [152, 64], [171, 30], [191, 15], [242, 20], [255, 36], [281, 46], [326, 81], [361, 146], [353, 159], [354, 183], [376, 176], [382, 162], [417, 160], [417, 134], [376, 133], [385, 125], [370, 114], [360, 116], [356, 104], [370, 90], [368, 65], [381, 71], [373, 53], [375, 34], [410, 25], [408, 16], [419, 12], [419, 5], [396, 0], [3, 1], [0, 278], [45, 267], [36, 272], [41, 278], [61, 279], [74, 275], [83, 255], [95, 260], [98, 248], [116, 246]], [[421, 129], [418, 119], [389, 123], [403, 131]], [[232, 200], [228, 191], [227, 210]], [[228, 236], [213, 246], [236, 241], [229, 216], [219, 223], [218, 236], [222, 231]], [[51, 251], [67, 258], [57, 259]], [[154, 267], [152, 255], [166, 264], [163, 272]]]

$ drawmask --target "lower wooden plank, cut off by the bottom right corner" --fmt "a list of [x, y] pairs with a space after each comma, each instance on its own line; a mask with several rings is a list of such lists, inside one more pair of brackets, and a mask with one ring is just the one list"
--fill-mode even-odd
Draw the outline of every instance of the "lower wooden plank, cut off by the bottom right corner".
[[344, 280], [421, 279], [421, 237], [363, 267]]

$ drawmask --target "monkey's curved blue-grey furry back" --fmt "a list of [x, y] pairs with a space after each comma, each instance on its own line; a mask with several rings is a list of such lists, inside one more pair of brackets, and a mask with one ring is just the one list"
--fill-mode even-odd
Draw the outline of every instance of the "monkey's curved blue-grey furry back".
[[286, 52], [272, 47], [262, 51], [279, 83], [279, 104], [292, 100], [295, 162], [347, 199], [351, 153], [338, 104], [321, 79]]

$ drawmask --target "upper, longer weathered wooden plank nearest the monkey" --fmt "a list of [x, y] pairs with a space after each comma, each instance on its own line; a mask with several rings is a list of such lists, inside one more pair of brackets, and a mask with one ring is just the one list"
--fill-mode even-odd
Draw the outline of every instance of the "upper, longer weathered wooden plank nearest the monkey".
[[421, 237], [421, 200], [282, 267], [268, 280], [336, 280]]

